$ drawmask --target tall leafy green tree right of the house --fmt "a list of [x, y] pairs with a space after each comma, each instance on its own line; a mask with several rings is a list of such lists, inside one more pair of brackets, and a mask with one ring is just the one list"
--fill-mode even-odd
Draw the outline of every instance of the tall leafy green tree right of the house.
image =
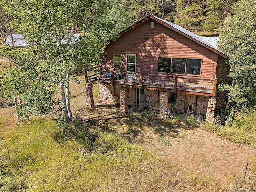
[[234, 16], [226, 20], [220, 31], [220, 48], [228, 54], [230, 77], [234, 87], [229, 92], [230, 101], [237, 107], [256, 104], [256, 1], [240, 1]]

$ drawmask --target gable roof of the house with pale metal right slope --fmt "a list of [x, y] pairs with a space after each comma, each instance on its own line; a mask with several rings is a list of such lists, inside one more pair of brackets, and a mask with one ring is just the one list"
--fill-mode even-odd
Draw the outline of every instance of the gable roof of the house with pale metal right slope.
[[186, 38], [189, 38], [190, 40], [204, 46], [205, 48], [208, 48], [209, 50], [215, 52], [216, 54], [224, 57], [224, 58], [228, 58], [228, 55], [226, 55], [224, 52], [222, 52], [219, 48], [218, 48], [218, 38], [212, 38], [212, 37], [200, 37], [192, 32], [190, 32], [189, 30], [186, 30], [185, 28], [174, 24], [172, 22], [168, 22], [164, 19], [158, 18], [154, 15], [149, 15], [145, 18], [143, 18], [142, 20], [136, 22], [135, 24], [133, 24], [132, 26], [128, 27], [127, 29], [123, 30], [122, 32], [120, 32], [119, 34], [122, 36], [123, 34], [129, 32], [130, 30], [140, 26], [142, 23], [147, 22], [148, 20], [155, 20], [156, 22], [174, 30], [175, 32], [185, 36]]

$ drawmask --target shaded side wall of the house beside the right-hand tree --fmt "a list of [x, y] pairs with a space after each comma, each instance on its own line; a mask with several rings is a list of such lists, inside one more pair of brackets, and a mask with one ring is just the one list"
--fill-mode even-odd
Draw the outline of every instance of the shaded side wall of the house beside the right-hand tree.
[[[225, 58], [219, 57], [218, 64], [216, 69], [216, 78], [218, 78], [217, 84], [227, 84], [228, 83], [228, 74], [229, 74], [229, 66], [226, 64]], [[220, 92], [217, 89], [216, 96], [216, 108], [217, 109], [224, 109], [226, 106], [226, 92]]]

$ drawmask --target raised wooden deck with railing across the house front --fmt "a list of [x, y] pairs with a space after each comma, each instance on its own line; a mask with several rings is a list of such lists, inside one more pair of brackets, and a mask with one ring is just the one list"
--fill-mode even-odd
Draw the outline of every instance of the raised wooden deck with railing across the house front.
[[[114, 74], [98, 71], [97, 67], [86, 70], [86, 82], [131, 88], [162, 90], [169, 92], [215, 96], [217, 78], [202, 79], [163, 74]], [[131, 77], [132, 76], [132, 77]]]

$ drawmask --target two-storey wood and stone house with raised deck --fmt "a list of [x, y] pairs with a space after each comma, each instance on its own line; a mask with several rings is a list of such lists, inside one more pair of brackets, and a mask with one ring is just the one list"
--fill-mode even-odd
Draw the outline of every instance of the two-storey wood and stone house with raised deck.
[[86, 70], [86, 103], [93, 106], [92, 84], [100, 84], [102, 102], [128, 107], [154, 107], [169, 112], [206, 115], [224, 108], [228, 56], [217, 48], [218, 38], [196, 34], [149, 15], [120, 32], [102, 54], [100, 66]]

